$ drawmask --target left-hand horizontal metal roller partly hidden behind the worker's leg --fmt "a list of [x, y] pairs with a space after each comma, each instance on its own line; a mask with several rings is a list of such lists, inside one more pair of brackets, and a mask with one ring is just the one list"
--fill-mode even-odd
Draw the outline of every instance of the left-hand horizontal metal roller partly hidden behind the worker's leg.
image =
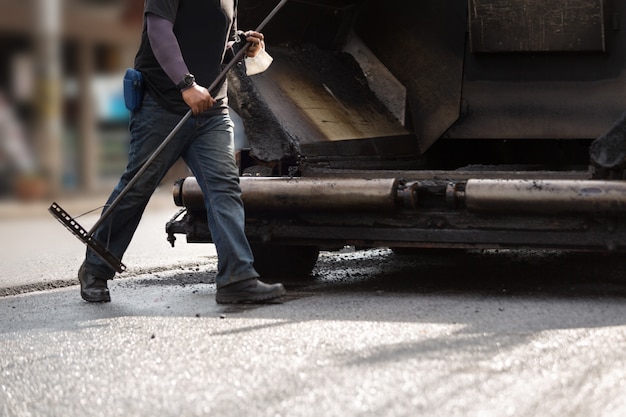
[[[246, 210], [378, 211], [397, 207], [396, 179], [242, 177]], [[194, 177], [174, 187], [174, 201], [191, 210], [204, 209]]]

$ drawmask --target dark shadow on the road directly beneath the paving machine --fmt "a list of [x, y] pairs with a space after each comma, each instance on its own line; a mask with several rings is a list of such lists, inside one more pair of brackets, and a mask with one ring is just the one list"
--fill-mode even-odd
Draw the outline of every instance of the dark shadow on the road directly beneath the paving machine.
[[414, 294], [626, 297], [622, 255], [560, 251], [391, 250], [322, 256], [316, 288]]

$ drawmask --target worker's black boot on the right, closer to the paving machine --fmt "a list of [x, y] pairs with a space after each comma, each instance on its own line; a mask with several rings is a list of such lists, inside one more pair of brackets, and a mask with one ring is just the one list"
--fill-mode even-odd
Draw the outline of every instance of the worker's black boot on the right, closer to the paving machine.
[[285, 295], [283, 284], [266, 284], [250, 278], [217, 289], [218, 304], [263, 303]]

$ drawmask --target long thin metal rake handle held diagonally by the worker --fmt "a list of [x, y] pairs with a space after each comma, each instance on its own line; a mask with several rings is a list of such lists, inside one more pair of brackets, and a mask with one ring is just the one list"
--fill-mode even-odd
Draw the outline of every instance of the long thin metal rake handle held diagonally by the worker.
[[[288, 0], [281, 0], [280, 3], [278, 3], [276, 5], [276, 7], [274, 7], [274, 9], [267, 15], [267, 17], [259, 24], [259, 26], [257, 26], [256, 31], [260, 32], [261, 30], [263, 30], [265, 25], [267, 25], [267, 23], [270, 20], [272, 20], [272, 18], [285, 5], [285, 3], [287, 3], [287, 1]], [[217, 76], [217, 78], [215, 78], [215, 80], [211, 83], [211, 85], [209, 87], [207, 87], [207, 89], [209, 91], [213, 91], [222, 82], [222, 80], [224, 78], [226, 78], [226, 75], [228, 74], [228, 71], [230, 71], [235, 66], [235, 64], [237, 62], [239, 62], [241, 60], [241, 58], [243, 58], [244, 54], [246, 53], [246, 51], [248, 50], [250, 45], [252, 45], [251, 42], [246, 42], [246, 44], [226, 64], [224, 69], [222, 69], [222, 72], [220, 72], [220, 74]], [[187, 113], [185, 113], [185, 115], [180, 120], [180, 122], [178, 122], [178, 124], [176, 126], [174, 126], [174, 129], [172, 129], [172, 131], [169, 133], [169, 135], [167, 135], [167, 137], [163, 140], [163, 142], [161, 142], [159, 147], [155, 149], [155, 151], [152, 153], [150, 158], [148, 158], [148, 160], [146, 160], [146, 162], [144, 162], [144, 164], [139, 169], [139, 171], [137, 171], [137, 173], [128, 182], [128, 184], [126, 184], [126, 186], [122, 189], [122, 191], [120, 191], [118, 196], [111, 202], [111, 204], [107, 207], [107, 209], [102, 213], [102, 215], [100, 216], [98, 221], [96, 221], [96, 223], [94, 223], [94, 225], [91, 227], [91, 229], [88, 232], [89, 236], [93, 235], [95, 233], [95, 231], [98, 229], [98, 227], [100, 227], [102, 225], [102, 223], [104, 223], [106, 221], [106, 219], [111, 215], [113, 210], [115, 210], [115, 208], [120, 204], [122, 199], [126, 196], [126, 194], [128, 194], [130, 189], [135, 185], [135, 183], [137, 181], [139, 181], [141, 176], [150, 167], [152, 162], [154, 162], [154, 160], [156, 158], [158, 158], [158, 156], [161, 154], [161, 152], [163, 152], [163, 149], [165, 149], [165, 147], [171, 142], [172, 138], [178, 133], [178, 131], [181, 129], [181, 127], [185, 124], [185, 122], [187, 122], [187, 120], [189, 120], [189, 118], [191, 117], [191, 114], [192, 114], [191, 110], [187, 111]]]

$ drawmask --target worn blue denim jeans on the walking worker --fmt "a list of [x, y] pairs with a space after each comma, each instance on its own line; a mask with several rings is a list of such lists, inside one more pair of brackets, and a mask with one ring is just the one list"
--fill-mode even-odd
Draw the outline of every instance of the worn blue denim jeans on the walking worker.
[[[150, 95], [145, 95], [141, 108], [131, 114], [128, 166], [107, 206], [181, 118], [162, 108]], [[228, 114], [191, 116], [95, 231], [94, 238], [122, 259], [150, 197], [169, 168], [182, 157], [198, 180], [204, 196], [209, 230], [218, 255], [218, 288], [258, 277], [244, 232], [245, 215], [239, 170], [234, 158], [233, 129]], [[99, 278], [111, 279], [115, 275], [115, 271], [90, 248], [87, 249], [85, 268]]]

